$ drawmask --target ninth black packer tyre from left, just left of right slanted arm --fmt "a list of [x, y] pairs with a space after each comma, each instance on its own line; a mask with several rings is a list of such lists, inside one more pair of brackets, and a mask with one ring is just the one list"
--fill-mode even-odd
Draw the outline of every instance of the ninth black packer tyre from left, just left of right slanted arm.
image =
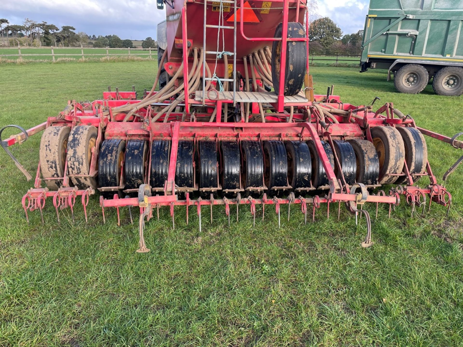
[[288, 183], [293, 189], [310, 187], [312, 159], [307, 143], [287, 141], [286, 155], [288, 157]]

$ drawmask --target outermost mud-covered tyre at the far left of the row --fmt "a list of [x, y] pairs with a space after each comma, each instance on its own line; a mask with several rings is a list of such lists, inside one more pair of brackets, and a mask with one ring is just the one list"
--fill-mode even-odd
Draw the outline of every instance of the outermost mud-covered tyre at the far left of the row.
[[[40, 140], [39, 161], [43, 178], [64, 177], [66, 150], [71, 128], [69, 126], [49, 126], [44, 130]], [[51, 190], [63, 186], [62, 180], [45, 180]]]

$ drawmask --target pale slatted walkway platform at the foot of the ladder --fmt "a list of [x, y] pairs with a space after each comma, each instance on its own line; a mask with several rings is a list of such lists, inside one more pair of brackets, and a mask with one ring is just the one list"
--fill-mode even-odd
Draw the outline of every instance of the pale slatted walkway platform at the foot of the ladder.
[[[233, 92], [217, 92], [218, 97], [215, 97], [216, 94], [213, 93], [211, 97], [213, 100], [233, 100]], [[263, 92], [236, 92], [236, 102], [261, 102], [267, 104], [273, 104], [277, 102], [277, 95], [273, 92], [263, 93]], [[206, 96], [207, 98], [207, 96]], [[202, 101], [202, 92], [197, 92], [195, 95], [196, 101]], [[285, 104], [288, 103], [307, 103], [308, 100], [300, 95], [285, 96]]]

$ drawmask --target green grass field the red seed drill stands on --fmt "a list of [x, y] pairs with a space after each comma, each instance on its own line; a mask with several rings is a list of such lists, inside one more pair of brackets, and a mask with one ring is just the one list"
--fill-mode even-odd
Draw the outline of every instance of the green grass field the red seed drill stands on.
[[[335, 85], [344, 102], [393, 101], [419, 126], [452, 136], [462, 131], [461, 98], [432, 93], [396, 93], [385, 71], [314, 67], [317, 93]], [[25, 128], [63, 110], [68, 99], [100, 98], [108, 85], [149, 88], [156, 62], [3, 64], [0, 124]], [[12, 134], [10, 131], [8, 134]], [[8, 135], [4, 134], [4, 135]], [[40, 136], [12, 151], [35, 174]], [[442, 174], [462, 154], [428, 140], [429, 160]], [[373, 216], [375, 245], [364, 249], [364, 220], [342, 206], [326, 219], [304, 225], [298, 206], [282, 207], [278, 228], [273, 208], [264, 222], [249, 208], [228, 227], [223, 208], [202, 231], [190, 209], [169, 210], [146, 225], [150, 253], [138, 254], [138, 228], [121, 209], [106, 210], [98, 198], [80, 204], [72, 223], [61, 224], [51, 200], [25, 221], [21, 197], [26, 182], [0, 151], [0, 346], [462, 346], [463, 221], [460, 167], [446, 182], [453, 194], [449, 217], [433, 205], [424, 218], [410, 218], [403, 201], [388, 219], [388, 207], [366, 208]], [[423, 179], [420, 182], [425, 185]], [[388, 189], [388, 187], [385, 187]], [[332, 207], [334, 208], [334, 207]], [[232, 211], [234, 211], [232, 209]]]

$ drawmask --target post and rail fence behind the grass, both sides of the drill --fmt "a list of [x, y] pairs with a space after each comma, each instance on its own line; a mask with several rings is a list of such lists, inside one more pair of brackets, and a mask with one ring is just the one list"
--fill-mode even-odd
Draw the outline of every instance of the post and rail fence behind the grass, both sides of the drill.
[[[152, 56], [157, 56], [157, 48], [156, 47], [150, 47], [150, 48], [96, 48], [96, 47], [85, 47], [85, 48], [75, 48], [75, 47], [0, 47], [0, 53], [2, 50], [13, 50], [17, 49], [18, 53], [17, 54], [0, 54], [0, 59], [1, 58], [13, 58], [17, 57], [19, 61], [27, 60], [27, 57], [50, 57], [52, 58], [53, 62], [56, 62], [56, 58], [59, 57], [80, 57], [81, 59], [91, 58], [91, 57], [107, 57], [109, 58], [111, 56], [127, 56], [127, 57], [132, 57], [132, 56], [147, 56], [150, 58], [150, 60], [153, 58]], [[21, 53], [21, 49], [48, 49], [51, 50], [50, 53]], [[75, 50], [75, 53], [55, 53], [55, 50]], [[88, 53], [84, 52], [84, 50], [106, 50], [106, 53]], [[110, 53], [111, 51], [118, 50], [118, 53]], [[154, 51], [153, 51], [154, 50]], [[120, 51], [125, 51], [126, 53], [121, 53]], [[334, 66], [338, 66], [340, 62], [351, 62], [351, 63], [360, 63], [360, 55], [323, 55], [323, 56], [315, 56], [311, 55], [310, 56], [310, 63], [313, 65], [315, 62], [334, 62]], [[357, 58], [357, 59], [353, 59]], [[34, 60], [34, 59], [31, 59]]]

